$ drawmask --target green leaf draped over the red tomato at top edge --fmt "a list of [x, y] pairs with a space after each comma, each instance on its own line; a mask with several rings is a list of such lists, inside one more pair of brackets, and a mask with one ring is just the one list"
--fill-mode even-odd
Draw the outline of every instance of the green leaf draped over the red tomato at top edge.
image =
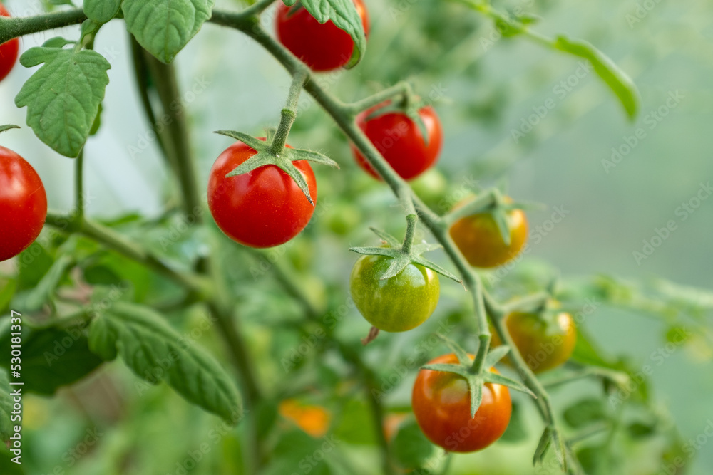
[[[284, 2], [287, 6], [290, 3]], [[294, 1], [291, 2], [294, 4]], [[345, 68], [353, 68], [364, 56], [366, 51], [366, 34], [364, 25], [361, 23], [361, 16], [356, 11], [356, 6], [352, 0], [302, 0], [302, 5], [314, 16], [319, 23], [327, 23], [332, 20], [337, 28], [349, 33], [354, 41], [354, 53]]]

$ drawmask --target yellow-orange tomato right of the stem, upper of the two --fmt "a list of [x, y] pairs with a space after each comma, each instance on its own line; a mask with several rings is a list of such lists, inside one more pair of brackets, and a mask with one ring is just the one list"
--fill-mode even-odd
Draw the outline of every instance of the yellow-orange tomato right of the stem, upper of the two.
[[[462, 202], [461, 204], [463, 204]], [[458, 204], [456, 206], [460, 206]], [[506, 245], [490, 213], [458, 219], [451, 226], [451, 237], [471, 266], [497, 267], [514, 259], [528, 239], [528, 219], [522, 209], [506, 212], [510, 245]]]

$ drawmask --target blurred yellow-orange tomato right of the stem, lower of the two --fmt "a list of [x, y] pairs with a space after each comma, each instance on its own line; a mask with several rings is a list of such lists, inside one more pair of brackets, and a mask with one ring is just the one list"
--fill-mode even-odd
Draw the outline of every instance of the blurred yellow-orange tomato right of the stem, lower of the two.
[[[560, 312], [546, 318], [537, 313], [515, 312], [507, 315], [505, 322], [513, 343], [533, 372], [562, 365], [575, 349], [577, 328], [569, 313]], [[492, 345], [501, 344], [498, 335], [493, 334]]]

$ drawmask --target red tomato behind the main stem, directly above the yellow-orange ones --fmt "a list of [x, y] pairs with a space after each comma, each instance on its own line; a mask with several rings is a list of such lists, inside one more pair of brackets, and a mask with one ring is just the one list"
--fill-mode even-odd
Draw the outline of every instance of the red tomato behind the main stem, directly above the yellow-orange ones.
[[[369, 137], [386, 162], [389, 162], [394, 171], [406, 180], [414, 179], [433, 167], [443, 147], [443, 127], [434, 108], [427, 106], [419, 110], [429, 135], [429, 142], [426, 145], [419, 126], [404, 113], [389, 112], [367, 120], [369, 115], [381, 107], [379, 105], [361, 113], [356, 118], [356, 125], [359, 125], [366, 137]], [[372, 177], [379, 177], [354, 145], [352, 145], [352, 153], [362, 169]]]

